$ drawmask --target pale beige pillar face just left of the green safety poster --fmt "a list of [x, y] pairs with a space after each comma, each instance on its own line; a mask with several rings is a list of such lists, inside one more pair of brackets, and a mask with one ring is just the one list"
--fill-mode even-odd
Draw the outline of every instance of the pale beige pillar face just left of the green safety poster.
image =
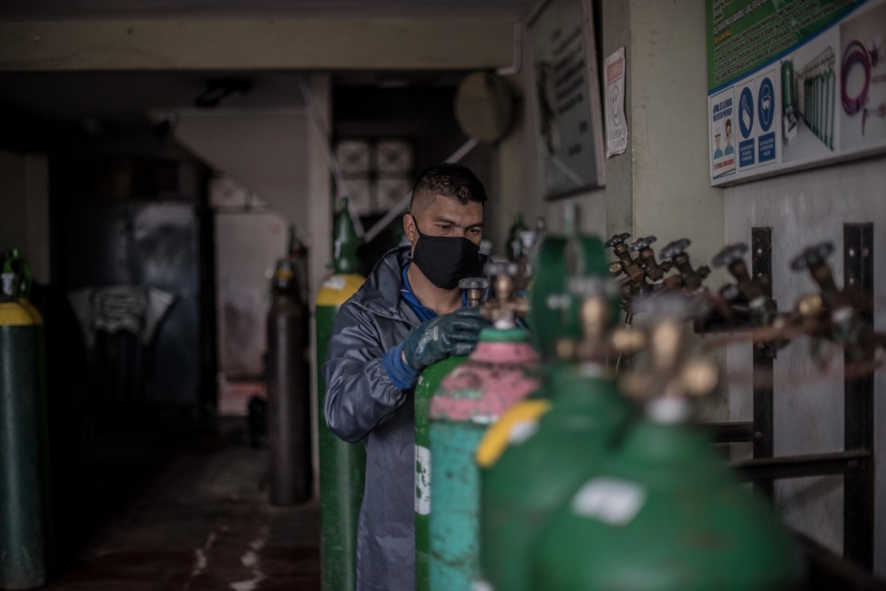
[[659, 245], [688, 237], [689, 252], [709, 262], [724, 221], [723, 191], [708, 172], [704, 6], [632, 0], [630, 21], [633, 233]]

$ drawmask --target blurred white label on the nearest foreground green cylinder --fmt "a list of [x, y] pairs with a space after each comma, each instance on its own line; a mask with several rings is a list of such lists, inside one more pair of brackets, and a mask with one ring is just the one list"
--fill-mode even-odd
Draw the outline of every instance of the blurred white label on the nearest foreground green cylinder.
[[617, 478], [593, 478], [572, 497], [572, 510], [607, 525], [627, 525], [646, 504], [646, 491]]

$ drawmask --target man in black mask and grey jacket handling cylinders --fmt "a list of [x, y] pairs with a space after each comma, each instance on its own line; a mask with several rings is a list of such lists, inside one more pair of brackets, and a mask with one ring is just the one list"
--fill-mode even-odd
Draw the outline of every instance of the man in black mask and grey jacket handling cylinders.
[[482, 275], [483, 184], [466, 167], [440, 164], [418, 177], [403, 228], [341, 307], [323, 364], [330, 430], [366, 446], [357, 533], [357, 591], [415, 588], [415, 404], [424, 367], [470, 353], [487, 323], [458, 281]]

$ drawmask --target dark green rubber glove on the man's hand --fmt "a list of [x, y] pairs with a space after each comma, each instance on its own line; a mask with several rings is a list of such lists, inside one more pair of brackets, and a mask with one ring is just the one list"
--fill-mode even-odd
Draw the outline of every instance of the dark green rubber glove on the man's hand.
[[462, 307], [431, 318], [406, 335], [403, 357], [410, 368], [421, 371], [447, 357], [470, 354], [477, 346], [480, 330], [487, 326], [478, 307]]

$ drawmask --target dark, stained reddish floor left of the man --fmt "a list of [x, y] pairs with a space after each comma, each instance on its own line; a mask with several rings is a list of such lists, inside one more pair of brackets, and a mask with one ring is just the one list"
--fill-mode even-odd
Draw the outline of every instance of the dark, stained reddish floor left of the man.
[[98, 442], [89, 516], [45, 588], [320, 588], [316, 503], [268, 505], [267, 452], [246, 445], [245, 419], [200, 431]]

